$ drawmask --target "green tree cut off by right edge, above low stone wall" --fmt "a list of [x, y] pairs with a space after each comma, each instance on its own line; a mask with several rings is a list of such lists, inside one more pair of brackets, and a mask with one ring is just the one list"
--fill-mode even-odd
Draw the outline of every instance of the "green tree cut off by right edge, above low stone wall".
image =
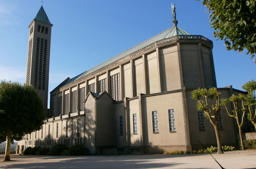
[[242, 88], [248, 92], [248, 95], [245, 97], [244, 104], [248, 106], [249, 114], [247, 117], [253, 123], [256, 130], [256, 81], [251, 80], [245, 83]]

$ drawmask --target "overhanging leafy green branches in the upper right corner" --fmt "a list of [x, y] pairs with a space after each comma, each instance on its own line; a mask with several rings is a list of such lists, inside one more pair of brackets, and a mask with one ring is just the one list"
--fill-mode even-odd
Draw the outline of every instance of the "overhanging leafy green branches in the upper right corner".
[[247, 49], [251, 59], [256, 53], [255, 3], [256, 0], [203, 0], [209, 9], [210, 25], [215, 29], [214, 37], [224, 39], [227, 50], [241, 53]]

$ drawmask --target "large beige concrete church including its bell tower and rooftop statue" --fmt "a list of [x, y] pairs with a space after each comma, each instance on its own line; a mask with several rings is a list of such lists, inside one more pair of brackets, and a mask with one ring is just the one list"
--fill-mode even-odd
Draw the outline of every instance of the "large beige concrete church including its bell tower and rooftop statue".
[[[106, 60], [50, 92], [50, 110], [39, 131], [19, 141], [26, 147], [84, 144], [92, 154], [163, 153], [216, 146], [212, 124], [198, 112], [191, 92], [217, 87], [212, 41], [173, 26]], [[51, 27], [44, 8], [29, 25], [27, 83], [47, 106]], [[198, 32], [199, 33], [199, 32]], [[244, 93], [218, 88], [222, 98]], [[231, 109], [231, 106], [228, 106]], [[223, 145], [236, 145], [233, 118], [221, 111]]]

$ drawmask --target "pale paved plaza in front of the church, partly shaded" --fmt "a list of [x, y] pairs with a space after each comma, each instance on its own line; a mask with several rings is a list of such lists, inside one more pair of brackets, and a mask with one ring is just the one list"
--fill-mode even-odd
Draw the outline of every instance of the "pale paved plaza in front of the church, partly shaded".
[[[256, 150], [225, 152], [212, 156], [225, 169], [256, 169]], [[2, 161], [4, 155], [0, 155]], [[209, 154], [41, 156], [12, 155], [0, 169], [221, 169]]]

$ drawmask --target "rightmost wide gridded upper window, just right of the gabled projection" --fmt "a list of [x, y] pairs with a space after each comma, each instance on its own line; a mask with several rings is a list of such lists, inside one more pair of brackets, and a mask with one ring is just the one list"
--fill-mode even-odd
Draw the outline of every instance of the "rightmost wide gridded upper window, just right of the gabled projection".
[[110, 77], [110, 94], [113, 100], [120, 100], [119, 96], [119, 73]]

